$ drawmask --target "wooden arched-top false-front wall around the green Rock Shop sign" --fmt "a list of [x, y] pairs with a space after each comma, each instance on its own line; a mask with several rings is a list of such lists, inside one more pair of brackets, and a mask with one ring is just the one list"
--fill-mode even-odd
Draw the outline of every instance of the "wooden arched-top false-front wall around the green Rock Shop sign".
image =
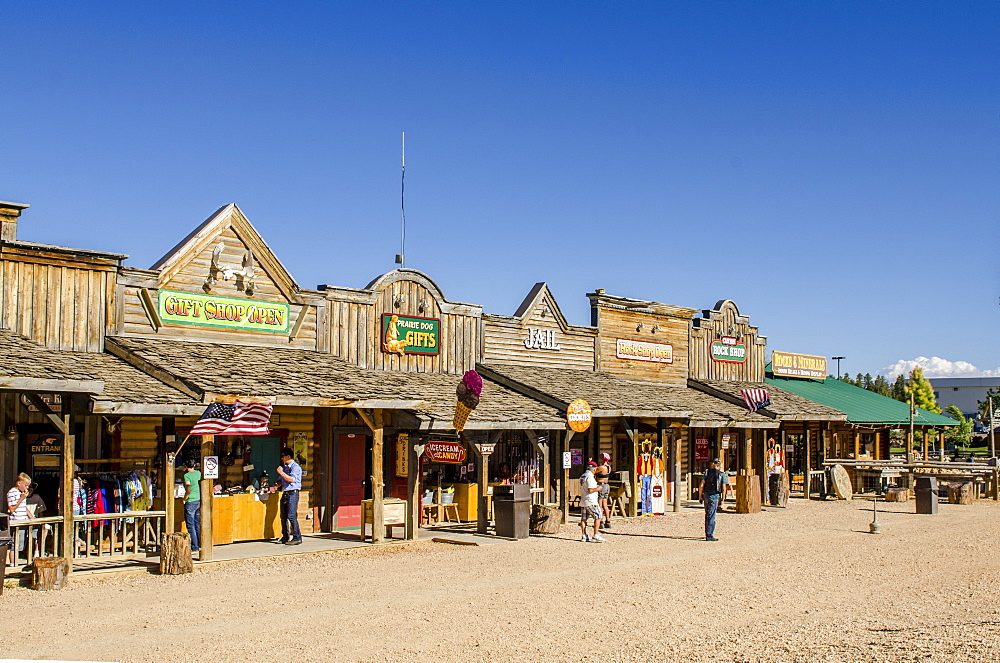
[[[712, 344], [723, 338], [735, 339], [746, 348], [743, 362], [713, 358]], [[691, 321], [690, 376], [695, 380], [763, 382], [767, 337], [760, 336], [750, 319], [740, 315], [736, 304], [719, 301], [710, 311]]]

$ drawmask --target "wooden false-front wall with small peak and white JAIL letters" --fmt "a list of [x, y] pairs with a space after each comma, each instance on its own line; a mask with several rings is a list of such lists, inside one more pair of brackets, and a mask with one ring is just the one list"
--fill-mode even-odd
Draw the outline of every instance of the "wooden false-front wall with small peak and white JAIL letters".
[[566, 322], [544, 283], [536, 283], [512, 316], [483, 316], [487, 364], [596, 368], [597, 329]]

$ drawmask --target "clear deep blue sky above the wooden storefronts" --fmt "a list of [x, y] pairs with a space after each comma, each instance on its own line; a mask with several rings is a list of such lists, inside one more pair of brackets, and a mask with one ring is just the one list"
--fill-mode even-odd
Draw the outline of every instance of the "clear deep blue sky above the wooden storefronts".
[[[399, 251], [711, 308], [870, 371], [1000, 368], [996, 2], [8, 2], [20, 237], [148, 267], [235, 202], [304, 287]], [[970, 371], [966, 369], [966, 373]]]

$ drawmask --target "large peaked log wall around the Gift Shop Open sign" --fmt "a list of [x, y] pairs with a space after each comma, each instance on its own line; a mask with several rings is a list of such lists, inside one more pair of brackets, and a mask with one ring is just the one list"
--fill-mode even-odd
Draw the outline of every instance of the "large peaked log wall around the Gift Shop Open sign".
[[[245, 301], [247, 307], [287, 304], [288, 319], [274, 332], [169, 322], [160, 317], [163, 290]], [[116, 295], [112, 335], [323, 349], [317, 339], [325, 298], [295, 284], [235, 205], [222, 208], [152, 269], [122, 269]]]

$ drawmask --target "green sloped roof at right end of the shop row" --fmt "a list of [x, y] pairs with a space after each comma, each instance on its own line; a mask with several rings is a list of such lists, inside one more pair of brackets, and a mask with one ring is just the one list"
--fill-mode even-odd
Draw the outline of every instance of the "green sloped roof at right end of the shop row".
[[[828, 377], [825, 380], [804, 380], [768, 376], [766, 382], [779, 389], [832, 407], [847, 415], [852, 424], [903, 426], [910, 423], [910, 406], [894, 398], [876, 394], [853, 384]], [[913, 416], [917, 426], [955, 426], [957, 421], [942, 414], [917, 408]]]

